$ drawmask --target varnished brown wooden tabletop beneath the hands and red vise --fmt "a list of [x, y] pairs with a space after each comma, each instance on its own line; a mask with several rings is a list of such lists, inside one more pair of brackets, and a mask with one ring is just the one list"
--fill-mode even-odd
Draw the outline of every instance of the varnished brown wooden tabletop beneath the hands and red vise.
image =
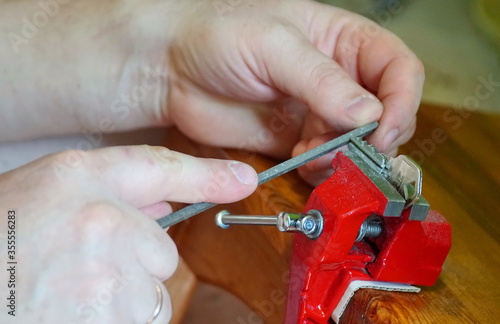
[[[176, 131], [169, 133], [168, 146], [247, 161], [258, 172], [277, 163], [200, 146]], [[341, 323], [499, 323], [500, 116], [424, 105], [416, 134], [400, 153], [420, 163], [424, 197], [452, 225], [452, 249], [433, 287], [422, 287], [418, 294], [358, 291]], [[199, 280], [234, 293], [264, 323], [281, 324], [292, 235], [264, 227], [222, 230], [214, 214], [220, 209], [269, 215], [301, 211], [311, 190], [292, 172], [260, 186], [244, 201], [205, 212], [169, 233]]]

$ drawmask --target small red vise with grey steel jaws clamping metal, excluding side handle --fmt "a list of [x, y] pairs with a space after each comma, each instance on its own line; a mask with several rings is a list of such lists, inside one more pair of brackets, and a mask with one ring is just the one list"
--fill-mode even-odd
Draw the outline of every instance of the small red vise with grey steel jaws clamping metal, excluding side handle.
[[321, 236], [295, 234], [286, 324], [338, 322], [358, 287], [431, 286], [451, 247], [450, 224], [429, 210], [414, 162], [358, 138], [348, 148], [305, 207], [322, 214]]

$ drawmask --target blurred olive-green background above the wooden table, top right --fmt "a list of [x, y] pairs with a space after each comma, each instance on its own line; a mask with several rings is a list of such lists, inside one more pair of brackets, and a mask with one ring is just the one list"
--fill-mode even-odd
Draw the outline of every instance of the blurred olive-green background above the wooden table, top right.
[[[423, 101], [464, 106], [480, 79], [500, 82], [500, 0], [322, 0], [399, 36], [423, 61]], [[479, 109], [500, 112], [500, 87]], [[467, 105], [467, 104], [465, 104]]]

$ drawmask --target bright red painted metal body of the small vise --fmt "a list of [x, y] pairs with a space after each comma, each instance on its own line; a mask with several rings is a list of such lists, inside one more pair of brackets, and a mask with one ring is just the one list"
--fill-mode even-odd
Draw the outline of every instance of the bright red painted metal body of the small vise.
[[305, 212], [324, 217], [317, 240], [295, 235], [286, 324], [326, 324], [354, 280], [433, 285], [451, 247], [451, 227], [438, 213], [425, 221], [383, 217], [384, 231], [370, 242], [355, 242], [371, 215], [382, 215], [385, 195], [347, 156], [338, 153], [335, 172], [318, 186]]

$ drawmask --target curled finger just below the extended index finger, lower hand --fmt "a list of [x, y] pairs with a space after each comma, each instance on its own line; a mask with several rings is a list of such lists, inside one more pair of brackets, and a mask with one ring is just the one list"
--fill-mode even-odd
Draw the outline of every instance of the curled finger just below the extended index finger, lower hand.
[[[79, 226], [72, 236], [85, 238], [81, 253], [103, 263], [126, 266], [124, 277], [136, 273], [139, 267], [163, 280], [177, 268], [178, 253], [172, 239], [154, 220], [130, 205], [89, 203], [74, 216], [74, 222]], [[103, 239], [107, 244], [102, 244]], [[113, 248], [119, 248], [120, 253]]]

